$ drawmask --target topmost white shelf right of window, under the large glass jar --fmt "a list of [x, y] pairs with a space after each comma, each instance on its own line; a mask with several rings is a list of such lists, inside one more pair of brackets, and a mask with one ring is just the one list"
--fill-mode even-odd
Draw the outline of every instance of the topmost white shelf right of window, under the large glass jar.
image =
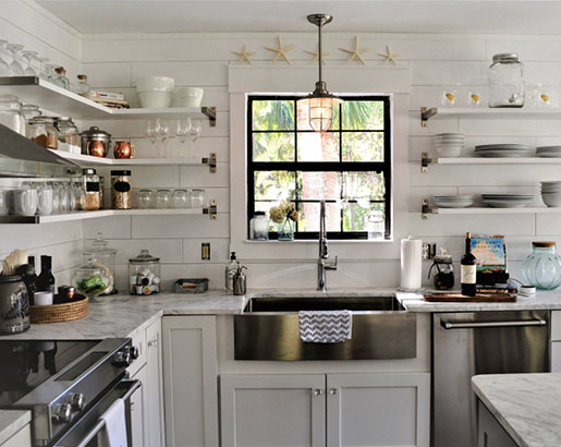
[[496, 108], [488, 107], [422, 107], [420, 108], [420, 126], [426, 128], [428, 120], [437, 118], [523, 118], [523, 119], [561, 119], [561, 109], [557, 108]]

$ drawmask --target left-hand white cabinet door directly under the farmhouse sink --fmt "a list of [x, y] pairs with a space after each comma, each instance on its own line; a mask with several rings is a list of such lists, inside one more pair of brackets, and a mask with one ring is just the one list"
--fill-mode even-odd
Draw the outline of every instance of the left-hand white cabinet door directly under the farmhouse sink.
[[221, 375], [222, 447], [325, 447], [325, 375]]

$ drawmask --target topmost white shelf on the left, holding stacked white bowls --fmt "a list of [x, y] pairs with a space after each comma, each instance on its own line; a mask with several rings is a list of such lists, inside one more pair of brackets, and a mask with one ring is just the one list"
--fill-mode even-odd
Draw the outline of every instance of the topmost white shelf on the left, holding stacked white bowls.
[[208, 120], [216, 126], [216, 107], [171, 107], [166, 109], [112, 109], [36, 76], [2, 76], [0, 94], [17, 96], [22, 101], [47, 107], [61, 116], [82, 120], [141, 120], [193, 118]]

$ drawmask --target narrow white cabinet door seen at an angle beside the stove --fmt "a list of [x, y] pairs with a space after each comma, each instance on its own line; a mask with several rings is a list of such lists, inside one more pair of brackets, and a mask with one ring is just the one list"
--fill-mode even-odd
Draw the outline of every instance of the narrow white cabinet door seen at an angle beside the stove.
[[146, 329], [147, 446], [163, 447], [163, 385], [161, 360], [161, 321]]

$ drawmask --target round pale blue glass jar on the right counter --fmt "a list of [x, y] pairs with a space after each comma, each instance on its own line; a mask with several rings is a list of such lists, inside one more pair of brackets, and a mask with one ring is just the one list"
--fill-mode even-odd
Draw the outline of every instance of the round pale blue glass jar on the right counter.
[[522, 265], [524, 282], [542, 290], [553, 290], [561, 285], [561, 256], [554, 242], [532, 242], [532, 254]]

